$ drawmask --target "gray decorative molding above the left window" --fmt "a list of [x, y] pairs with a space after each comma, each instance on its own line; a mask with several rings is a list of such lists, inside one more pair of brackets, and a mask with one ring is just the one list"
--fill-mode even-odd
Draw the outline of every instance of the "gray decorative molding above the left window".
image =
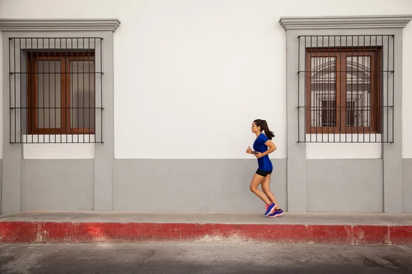
[[119, 19], [0, 19], [0, 31], [112, 31], [119, 27]]

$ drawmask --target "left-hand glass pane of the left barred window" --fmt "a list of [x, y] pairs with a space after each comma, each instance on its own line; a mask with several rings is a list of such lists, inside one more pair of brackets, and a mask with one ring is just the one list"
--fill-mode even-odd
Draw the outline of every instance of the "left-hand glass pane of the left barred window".
[[60, 61], [37, 61], [37, 126], [61, 126]]

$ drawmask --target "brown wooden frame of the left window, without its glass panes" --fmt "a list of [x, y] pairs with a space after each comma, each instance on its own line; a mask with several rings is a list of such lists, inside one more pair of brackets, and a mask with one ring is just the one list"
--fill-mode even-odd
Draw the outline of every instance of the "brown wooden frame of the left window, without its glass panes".
[[[60, 128], [38, 128], [37, 126], [37, 61], [60, 61]], [[70, 62], [71, 61], [93, 61], [93, 52], [32, 52], [27, 53], [27, 132], [28, 134], [95, 134], [94, 127], [71, 127], [70, 114]], [[95, 83], [95, 68], [93, 67], [93, 82]], [[93, 84], [93, 119], [95, 120], [95, 84]], [[78, 110], [81, 110], [79, 108]], [[58, 111], [58, 108], [56, 108]], [[56, 117], [55, 117], [56, 118]], [[50, 119], [50, 116], [49, 116]]]

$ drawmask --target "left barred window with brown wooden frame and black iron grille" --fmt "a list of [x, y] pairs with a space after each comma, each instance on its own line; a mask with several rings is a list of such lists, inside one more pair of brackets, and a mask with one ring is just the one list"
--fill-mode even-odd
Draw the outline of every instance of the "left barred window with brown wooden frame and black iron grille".
[[11, 38], [10, 142], [101, 142], [101, 52], [101, 38]]

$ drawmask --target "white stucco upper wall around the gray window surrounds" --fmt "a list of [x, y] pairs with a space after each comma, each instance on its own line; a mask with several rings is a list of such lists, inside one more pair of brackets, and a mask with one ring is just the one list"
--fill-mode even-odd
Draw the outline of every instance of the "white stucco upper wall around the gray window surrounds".
[[[0, 18], [122, 21], [115, 32], [115, 158], [250, 158], [244, 150], [253, 143], [249, 128], [257, 118], [266, 119], [276, 134], [278, 150], [271, 158], [286, 158], [286, 33], [279, 18], [412, 14], [409, 0], [336, 3], [0, 0]], [[405, 62], [411, 45], [409, 25]], [[403, 103], [411, 104], [405, 62]], [[403, 117], [403, 154], [412, 158], [412, 108], [404, 107]], [[359, 151], [362, 158], [380, 157], [378, 145], [342, 145], [309, 144], [308, 157], [358, 158]], [[76, 149], [86, 157], [81, 146], [72, 146], [70, 157]]]

